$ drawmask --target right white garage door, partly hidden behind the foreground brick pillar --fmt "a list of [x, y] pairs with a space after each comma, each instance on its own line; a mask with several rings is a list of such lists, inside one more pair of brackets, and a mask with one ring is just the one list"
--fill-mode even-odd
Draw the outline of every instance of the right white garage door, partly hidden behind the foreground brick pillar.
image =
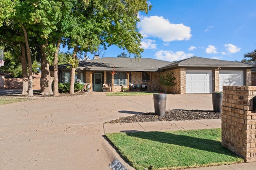
[[243, 70], [220, 70], [220, 91], [222, 86], [244, 86]]

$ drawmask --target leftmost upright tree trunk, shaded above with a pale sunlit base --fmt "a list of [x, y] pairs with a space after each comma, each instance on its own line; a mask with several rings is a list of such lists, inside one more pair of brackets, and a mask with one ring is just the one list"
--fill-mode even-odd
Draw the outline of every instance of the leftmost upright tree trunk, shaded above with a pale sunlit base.
[[27, 61], [26, 61], [26, 50], [24, 44], [20, 43], [21, 47], [21, 55], [19, 56], [21, 61], [21, 68], [22, 68], [22, 94], [21, 95], [28, 95], [28, 70], [27, 70]]

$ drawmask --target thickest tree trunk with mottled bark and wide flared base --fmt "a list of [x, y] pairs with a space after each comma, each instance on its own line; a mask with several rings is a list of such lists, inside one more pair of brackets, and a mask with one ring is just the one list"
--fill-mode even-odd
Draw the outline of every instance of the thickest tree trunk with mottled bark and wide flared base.
[[41, 71], [42, 76], [40, 78], [40, 87], [42, 95], [52, 95], [52, 77], [50, 76], [50, 68], [49, 68], [49, 62], [46, 59], [47, 55], [45, 53], [46, 45], [40, 45], [41, 50]]

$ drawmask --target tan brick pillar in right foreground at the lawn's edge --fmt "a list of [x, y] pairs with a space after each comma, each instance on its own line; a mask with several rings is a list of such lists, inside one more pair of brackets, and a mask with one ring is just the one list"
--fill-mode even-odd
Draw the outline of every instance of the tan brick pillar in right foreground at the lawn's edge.
[[222, 145], [246, 162], [256, 161], [256, 86], [223, 86]]

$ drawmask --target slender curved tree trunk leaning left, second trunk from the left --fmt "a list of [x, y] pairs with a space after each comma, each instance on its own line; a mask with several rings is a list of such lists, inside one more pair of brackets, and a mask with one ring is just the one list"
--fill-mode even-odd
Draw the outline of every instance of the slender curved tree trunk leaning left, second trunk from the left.
[[30, 54], [30, 48], [28, 44], [28, 34], [25, 27], [21, 24], [22, 30], [24, 32], [24, 39], [26, 43], [26, 52], [28, 57], [28, 96], [33, 96], [33, 77], [32, 77], [32, 60]]

